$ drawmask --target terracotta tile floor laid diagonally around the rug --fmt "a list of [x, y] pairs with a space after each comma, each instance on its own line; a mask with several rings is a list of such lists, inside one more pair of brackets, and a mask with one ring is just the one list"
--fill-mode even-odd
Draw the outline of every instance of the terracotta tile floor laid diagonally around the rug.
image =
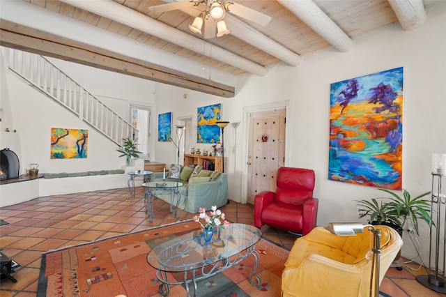
[[[169, 204], [155, 199], [155, 218], [148, 222], [144, 208], [144, 192], [137, 189], [136, 198], [128, 199], [128, 189], [83, 192], [70, 195], [39, 197], [0, 208], [0, 219], [9, 224], [0, 226], [0, 248], [20, 267], [13, 275], [17, 282], [2, 280], [0, 297], [36, 296], [41, 253], [69, 245], [86, 243], [139, 229], [176, 222], [169, 213]], [[254, 224], [251, 205], [230, 201], [221, 208], [232, 222]], [[179, 210], [180, 220], [195, 214]], [[268, 226], [263, 236], [291, 249], [297, 236]], [[417, 267], [417, 265], [411, 265]], [[443, 296], [427, 289], [415, 279], [425, 271], [390, 268], [380, 290], [393, 296]]]

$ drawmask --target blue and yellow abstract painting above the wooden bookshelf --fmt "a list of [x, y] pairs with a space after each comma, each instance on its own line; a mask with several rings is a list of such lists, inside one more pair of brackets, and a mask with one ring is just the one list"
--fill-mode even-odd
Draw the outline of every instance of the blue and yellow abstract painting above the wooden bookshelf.
[[199, 144], [216, 144], [220, 142], [220, 128], [215, 124], [222, 119], [221, 103], [198, 107], [197, 142]]

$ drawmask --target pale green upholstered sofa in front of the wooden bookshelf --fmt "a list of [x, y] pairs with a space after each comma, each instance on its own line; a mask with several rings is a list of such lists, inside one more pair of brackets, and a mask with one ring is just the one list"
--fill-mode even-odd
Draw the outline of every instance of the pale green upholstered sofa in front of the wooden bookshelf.
[[[228, 175], [204, 169], [200, 172], [199, 176], [181, 176], [183, 179], [171, 178], [166, 174], [166, 181], [183, 183], [183, 187], [178, 188], [181, 195], [178, 208], [190, 213], [198, 213], [201, 207], [210, 209], [210, 206], [217, 206], [218, 208], [228, 203]], [[210, 174], [215, 178], [211, 178]], [[151, 180], [162, 181], [162, 176], [162, 172], [154, 173]], [[170, 203], [170, 195], [157, 195], [157, 197]]]

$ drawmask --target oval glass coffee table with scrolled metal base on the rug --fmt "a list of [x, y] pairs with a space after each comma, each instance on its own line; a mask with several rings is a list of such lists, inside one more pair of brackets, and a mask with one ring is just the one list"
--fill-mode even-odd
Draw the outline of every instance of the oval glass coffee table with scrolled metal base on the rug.
[[[259, 264], [256, 243], [262, 232], [247, 224], [230, 224], [226, 229], [215, 230], [213, 238], [206, 242], [201, 230], [183, 234], [170, 241], [161, 243], [147, 254], [147, 262], [155, 268], [160, 284], [160, 294], [169, 295], [170, 284], [184, 284], [187, 296], [189, 284], [194, 284], [194, 296], [197, 296], [197, 281], [221, 273], [250, 255], [255, 259], [249, 275], [249, 282], [257, 287], [261, 284], [259, 275], [254, 271]], [[182, 273], [181, 280], [169, 280], [169, 273]]]

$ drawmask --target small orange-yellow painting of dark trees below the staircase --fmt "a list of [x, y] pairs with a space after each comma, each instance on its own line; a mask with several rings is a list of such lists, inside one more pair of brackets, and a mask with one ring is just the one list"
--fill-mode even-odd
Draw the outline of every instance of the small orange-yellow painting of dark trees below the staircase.
[[89, 130], [51, 129], [51, 158], [79, 159], [86, 158], [89, 147]]

